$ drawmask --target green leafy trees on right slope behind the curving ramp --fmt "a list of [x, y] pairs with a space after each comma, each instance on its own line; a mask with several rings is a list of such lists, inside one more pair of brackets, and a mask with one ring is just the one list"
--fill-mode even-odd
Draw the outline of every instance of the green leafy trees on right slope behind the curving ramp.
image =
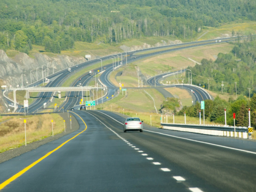
[[249, 91], [252, 95], [256, 90], [256, 40], [235, 43], [230, 53], [219, 53], [215, 61], [203, 59], [201, 65], [188, 69], [192, 70], [192, 84], [249, 97]]

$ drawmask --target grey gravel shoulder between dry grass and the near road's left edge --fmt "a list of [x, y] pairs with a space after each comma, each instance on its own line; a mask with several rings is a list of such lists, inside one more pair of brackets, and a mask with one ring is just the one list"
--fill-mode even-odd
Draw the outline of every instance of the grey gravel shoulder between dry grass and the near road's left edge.
[[[63, 118], [63, 120], [65, 120], [65, 122], [70, 121], [70, 118], [68, 117], [67, 112], [59, 113], [59, 115]], [[69, 115], [72, 115], [72, 114], [69, 113]], [[16, 156], [20, 156], [21, 154], [29, 152], [33, 149], [36, 149], [43, 144], [57, 140], [57, 139], [61, 138], [62, 136], [70, 134], [78, 129], [79, 129], [79, 124], [78, 124], [76, 118], [73, 116], [72, 117], [72, 129], [70, 129], [70, 124], [66, 123], [66, 132], [56, 134], [56, 135], [54, 135], [54, 137], [50, 136], [50, 137], [44, 138], [43, 140], [38, 140], [38, 141], [35, 141], [32, 143], [29, 143], [29, 144], [27, 144], [27, 146], [23, 145], [19, 148], [14, 148], [12, 150], [8, 150], [3, 153], [0, 153], [0, 163], [10, 160]]]

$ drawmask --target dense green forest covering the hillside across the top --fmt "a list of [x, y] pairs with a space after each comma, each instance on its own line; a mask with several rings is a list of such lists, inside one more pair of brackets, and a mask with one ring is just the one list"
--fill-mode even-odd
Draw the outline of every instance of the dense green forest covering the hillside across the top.
[[255, 0], [1, 0], [0, 49], [60, 53], [75, 41], [192, 39], [204, 26], [256, 20]]

